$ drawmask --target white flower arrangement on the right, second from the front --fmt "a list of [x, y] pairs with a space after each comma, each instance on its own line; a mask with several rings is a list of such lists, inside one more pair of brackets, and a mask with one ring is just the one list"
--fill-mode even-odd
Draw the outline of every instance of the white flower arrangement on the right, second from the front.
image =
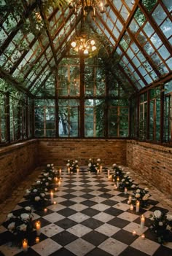
[[133, 203], [136, 204], [136, 201], [140, 202], [140, 207], [144, 208], [149, 206], [149, 189], [147, 187], [141, 188], [137, 187], [137, 189], [133, 192]]

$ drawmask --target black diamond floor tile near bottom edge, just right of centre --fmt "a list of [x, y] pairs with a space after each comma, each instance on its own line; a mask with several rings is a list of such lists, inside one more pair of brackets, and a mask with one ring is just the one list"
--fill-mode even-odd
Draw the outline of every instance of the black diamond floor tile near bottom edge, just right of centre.
[[95, 230], [87, 233], [85, 236], [82, 236], [82, 239], [88, 241], [90, 244], [97, 247], [99, 244], [103, 243], [108, 238], [108, 236], [103, 235], [102, 233], [96, 232]]

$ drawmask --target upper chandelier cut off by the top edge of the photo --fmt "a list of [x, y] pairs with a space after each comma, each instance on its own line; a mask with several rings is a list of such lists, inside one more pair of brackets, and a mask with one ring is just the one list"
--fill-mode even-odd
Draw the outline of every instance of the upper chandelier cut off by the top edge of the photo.
[[74, 9], [74, 13], [77, 15], [77, 10], [83, 8], [84, 17], [88, 13], [91, 13], [92, 17], [96, 17], [96, 12], [103, 14], [106, 12], [109, 4], [106, 0], [69, 0], [69, 8]]

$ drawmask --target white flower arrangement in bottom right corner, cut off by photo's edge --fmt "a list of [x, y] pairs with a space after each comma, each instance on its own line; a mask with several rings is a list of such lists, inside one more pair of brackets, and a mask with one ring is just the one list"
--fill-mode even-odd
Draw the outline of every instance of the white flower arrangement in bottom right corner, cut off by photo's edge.
[[151, 221], [150, 229], [156, 234], [160, 244], [172, 241], [172, 214], [165, 214], [156, 210], [149, 217]]

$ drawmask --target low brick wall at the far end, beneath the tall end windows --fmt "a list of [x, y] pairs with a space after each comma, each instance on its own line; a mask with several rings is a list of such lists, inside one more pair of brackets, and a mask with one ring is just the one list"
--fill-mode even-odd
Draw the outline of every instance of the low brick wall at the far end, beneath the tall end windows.
[[39, 163], [66, 165], [68, 159], [87, 165], [89, 158], [101, 158], [104, 165], [126, 164], [126, 140], [122, 139], [40, 139]]

